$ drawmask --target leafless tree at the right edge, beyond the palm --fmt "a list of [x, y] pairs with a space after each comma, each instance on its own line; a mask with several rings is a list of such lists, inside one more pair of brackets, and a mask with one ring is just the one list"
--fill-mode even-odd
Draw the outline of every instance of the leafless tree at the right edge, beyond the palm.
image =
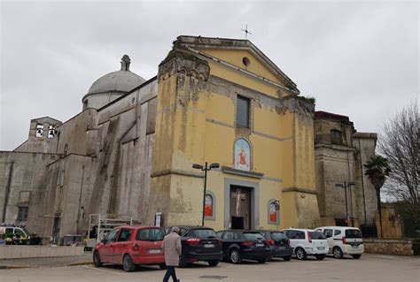
[[388, 159], [391, 181], [387, 185], [398, 200], [420, 210], [420, 114], [418, 98], [385, 124], [378, 139], [380, 153]]

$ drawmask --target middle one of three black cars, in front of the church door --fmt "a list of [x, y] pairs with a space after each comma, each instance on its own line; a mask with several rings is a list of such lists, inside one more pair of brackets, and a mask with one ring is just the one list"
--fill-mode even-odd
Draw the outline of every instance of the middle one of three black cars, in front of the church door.
[[222, 239], [223, 259], [226, 261], [241, 263], [248, 259], [265, 263], [269, 259], [268, 242], [260, 232], [224, 230], [217, 235]]

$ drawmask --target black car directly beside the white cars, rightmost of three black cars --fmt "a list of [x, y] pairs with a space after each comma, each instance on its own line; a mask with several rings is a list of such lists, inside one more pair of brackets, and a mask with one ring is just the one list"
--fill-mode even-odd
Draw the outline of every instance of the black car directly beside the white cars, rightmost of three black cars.
[[259, 230], [259, 232], [268, 241], [270, 259], [273, 257], [282, 257], [284, 261], [290, 261], [292, 259], [293, 248], [284, 232], [269, 230]]

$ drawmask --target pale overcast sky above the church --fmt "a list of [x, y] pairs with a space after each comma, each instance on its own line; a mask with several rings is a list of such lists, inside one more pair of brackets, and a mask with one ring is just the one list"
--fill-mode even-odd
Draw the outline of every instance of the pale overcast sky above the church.
[[[1, 0], [0, 0], [1, 1]], [[251, 40], [316, 111], [360, 132], [419, 93], [419, 4], [362, 1], [1, 1], [0, 150], [27, 139], [31, 118], [66, 121], [107, 72], [158, 72], [179, 34]]]

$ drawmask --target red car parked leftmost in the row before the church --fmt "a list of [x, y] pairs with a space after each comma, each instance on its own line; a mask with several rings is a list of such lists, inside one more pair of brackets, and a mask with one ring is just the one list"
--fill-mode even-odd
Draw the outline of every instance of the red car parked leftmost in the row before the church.
[[165, 268], [162, 249], [165, 229], [154, 226], [120, 226], [108, 232], [93, 252], [96, 267], [103, 263], [122, 264], [124, 271], [134, 271], [137, 264], [157, 264]]

